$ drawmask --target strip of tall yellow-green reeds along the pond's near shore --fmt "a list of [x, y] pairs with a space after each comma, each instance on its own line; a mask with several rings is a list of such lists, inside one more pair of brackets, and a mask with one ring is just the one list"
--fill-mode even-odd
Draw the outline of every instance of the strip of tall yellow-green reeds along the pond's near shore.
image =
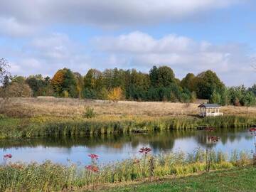
[[[44, 164], [7, 164], [0, 166], [0, 191], [72, 191], [99, 188], [105, 184], [154, 180], [165, 176], [186, 176], [206, 170], [206, 156], [210, 155], [210, 170], [233, 169], [252, 164], [251, 155], [233, 152], [228, 158], [221, 151], [206, 154], [198, 149], [194, 154], [176, 152], [139, 159], [127, 159], [113, 164], [64, 166], [46, 161]], [[86, 156], [85, 156], [86, 158]]]

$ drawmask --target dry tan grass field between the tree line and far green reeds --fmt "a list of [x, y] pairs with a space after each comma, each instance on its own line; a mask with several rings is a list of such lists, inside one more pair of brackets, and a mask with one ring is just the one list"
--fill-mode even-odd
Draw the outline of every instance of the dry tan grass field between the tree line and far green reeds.
[[[12, 117], [77, 117], [85, 112], [86, 107], [92, 107], [100, 115], [136, 115], [136, 116], [177, 116], [195, 115], [198, 113], [198, 103], [183, 104], [171, 102], [110, 102], [102, 100], [78, 100], [53, 97], [41, 98], [11, 98], [0, 99], [0, 113]], [[256, 116], [256, 107], [222, 108], [224, 114], [239, 114]]]

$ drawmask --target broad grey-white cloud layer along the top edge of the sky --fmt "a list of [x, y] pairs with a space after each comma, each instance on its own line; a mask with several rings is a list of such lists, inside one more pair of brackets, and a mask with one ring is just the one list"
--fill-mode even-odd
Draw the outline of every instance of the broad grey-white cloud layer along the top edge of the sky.
[[53, 23], [110, 28], [191, 21], [203, 13], [245, 1], [248, 0], [9, 0], [1, 1], [0, 31], [16, 36]]

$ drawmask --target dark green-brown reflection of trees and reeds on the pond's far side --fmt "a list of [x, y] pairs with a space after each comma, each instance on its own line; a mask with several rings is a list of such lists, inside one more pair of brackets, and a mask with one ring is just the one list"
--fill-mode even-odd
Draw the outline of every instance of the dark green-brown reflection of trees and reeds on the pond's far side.
[[[86, 146], [95, 148], [98, 146], [110, 147], [113, 149], [122, 149], [129, 144], [132, 148], [137, 148], [139, 145], [149, 145], [154, 151], [171, 150], [174, 147], [176, 139], [193, 137], [200, 146], [206, 147], [207, 137], [210, 134], [220, 137], [220, 142], [239, 141], [242, 138], [247, 140], [252, 139], [250, 134], [247, 134], [245, 129], [215, 129], [212, 133], [205, 131], [191, 130], [171, 130], [161, 132], [149, 132], [146, 134], [102, 134], [99, 136], [89, 135], [88, 137], [53, 137], [41, 139], [6, 139], [1, 140], [1, 148], [10, 147], [63, 147], [71, 148], [73, 146]], [[188, 143], [189, 144], [189, 143]]]

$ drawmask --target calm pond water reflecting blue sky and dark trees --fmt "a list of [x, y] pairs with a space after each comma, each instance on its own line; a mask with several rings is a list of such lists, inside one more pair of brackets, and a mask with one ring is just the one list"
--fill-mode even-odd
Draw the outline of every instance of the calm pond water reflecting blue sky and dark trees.
[[[87, 164], [90, 153], [100, 156], [100, 163], [127, 159], [139, 155], [142, 146], [149, 146], [154, 154], [163, 151], [185, 151], [192, 153], [196, 148], [209, 146], [208, 136], [220, 137], [212, 147], [230, 153], [234, 149], [252, 151], [254, 138], [248, 129], [170, 130], [146, 134], [112, 134], [85, 138], [9, 139], [0, 140], [0, 156], [12, 154], [11, 161], [37, 161], [49, 159], [55, 163]], [[3, 159], [0, 159], [0, 164]]]

